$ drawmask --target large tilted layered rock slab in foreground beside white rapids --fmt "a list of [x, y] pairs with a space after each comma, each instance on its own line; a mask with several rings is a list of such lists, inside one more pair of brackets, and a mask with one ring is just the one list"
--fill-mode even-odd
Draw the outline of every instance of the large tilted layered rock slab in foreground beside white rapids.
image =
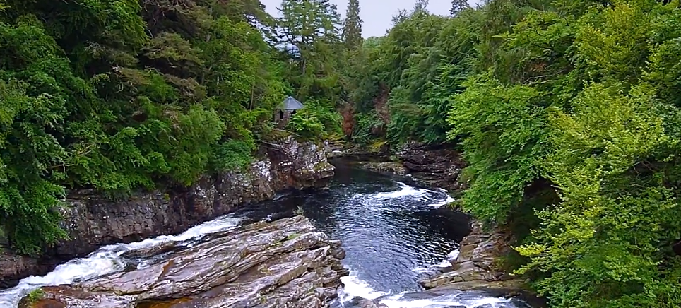
[[40, 300], [25, 297], [19, 307], [319, 308], [338, 296], [340, 276], [348, 275], [340, 242], [302, 216], [211, 237], [145, 268], [43, 287]]

